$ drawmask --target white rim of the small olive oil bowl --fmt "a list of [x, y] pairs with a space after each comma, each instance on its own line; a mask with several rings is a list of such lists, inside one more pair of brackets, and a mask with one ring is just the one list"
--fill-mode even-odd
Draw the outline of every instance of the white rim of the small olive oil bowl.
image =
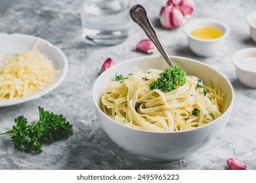
[[[221, 37], [216, 38], [216, 39], [200, 39], [200, 38], [192, 36], [191, 32], [188, 32], [188, 27], [190, 26], [190, 24], [194, 24], [194, 22], [203, 21], [203, 20], [222, 25], [224, 27], [224, 30], [225, 30], [223, 35]], [[224, 22], [221, 22], [219, 20], [215, 20], [213, 18], [196, 18], [196, 19], [190, 20], [184, 25], [183, 30], [184, 30], [184, 33], [186, 34], [186, 36], [189, 37], [190, 39], [194, 39], [196, 41], [202, 41], [202, 42], [217, 42], [217, 41], [225, 39], [228, 36], [228, 34], [230, 33], [230, 29], [229, 29], [228, 25], [224, 24]]]

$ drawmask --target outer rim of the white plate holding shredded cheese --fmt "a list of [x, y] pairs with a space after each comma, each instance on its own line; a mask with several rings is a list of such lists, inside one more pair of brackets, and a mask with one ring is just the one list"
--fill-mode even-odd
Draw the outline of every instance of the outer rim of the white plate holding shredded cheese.
[[[26, 35], [26, 34], [20, 34], [20, 33], [12, 33], [12, 34], [8, 34], [8, 33], [0, 33], [1, 37], [24, 37], [25, 39], [38, 39], [39, 37], [35, 37], [33, 35]], [[53, 80], [53, 82], [49, 83], [49, 86], [47, 86], [46, 88], [44, 88], [43, 90], [39, 90], [39, 92], [37, 93], [33, 93], [32, 95], [29, 95], [28, 97], [24, 97], [22, 99], [13, 99], [13, 100], [1, 100], [0, 101], [0, 107], [9, 107], [12, 105], [18, 105], [21, 103], [25, 103], [28, 101], [32, 101], [33, 99], [38, 99], [39, 97], [42, 97], [43, 95], [53, 91], [57, 86], [59, 86], [62, 81], [64, 80], [64, 78], [66, 77], [66, 75], [68, 74], [68, 59], [66, 58], [64, 52], [62, 52], [62, 50], [60, 50], [60, 48], [58, 48], [57, 46], [54, 46], [51, 42], [42, 39], [40, 37], [40, 42], [45, 42], [45, 44], [55, 50], [60, 58], [62, 59], [62, 63], [63, 63], [63, 68], [60, 69], [60, 74], [58, 75], [58, 78]], [[60, 61], [58, 61], [60, 62]]]

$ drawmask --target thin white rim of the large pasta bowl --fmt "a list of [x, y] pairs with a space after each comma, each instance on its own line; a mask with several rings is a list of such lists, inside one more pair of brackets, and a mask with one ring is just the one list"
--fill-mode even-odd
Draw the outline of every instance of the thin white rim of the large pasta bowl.
[[[127, 59], [125, 61], [122, 61], [121, 63], [117, 63], [116, 65], [110, 67], [110, 69], [104, 71], [105, 72], [108, 72], [108, 71], [111, 71], [111, 70], [114, 70], [117, 66], [119, 65], [125, 65], [127, 63], [129, 63], [130, 61], [134, 61], [134, 60], [137, 60], [137, 59], [145, 59], [145, 58], [160, 58], [161, 56], [142, 56], [142, 57], [137, 57], [137, 58], [132, 58], [132, 59]], [[199, 63], [199, 64], [202, 64], [206, 67], [210, 67], [209, 65], [205, 64], [205, 63], [202, 63], [200, 61], [197, 61], [196, 59], [190, 59], [190, 58], [184, 58], [184, 57], [181, 57], [181, 56], [169, 56], [169, 58], [177, 58], [177, 59], [187, 59], [189, 61], [192, 61], [192, 62], [196, 62], [196, 63]], [[230, 83], [230, 81], [228, 80], [228, 78], [226, 78], [226, 76], [224, 76], [221, 72], [217, 71], [216, 69], [214, 69], [213, 67], [210, 67], [211, 69], [213, 69], [215, 72], [217, 72], [219, 75], [223, 76], [224, 80], [226, 81], [226, 83], [228, 84], [229, 88], [231, 89], [231, 94], [232, 94], [232, 99], [230, 101], [230, 105], [228, 106], [228, 108], [226, 108], [226, 111], [223, 112], [223, 114], [221, 116], [219, 116], [219, 118], [217, 118], [216, 120], [213, 120], [212, 122], [210, 122], [209, 124], [205, 124], [205, 125], [202, 125], [200, 127], [196, 127], [194, 129], [186, 129], [186, 130], [181, 130], [181, 131], [149, 131], [149, 130], [145, 130], [145, 129], [137, 129], [135, 127], [130, 127], [128, 125], [124, 125], [124, 124], [121, 124], [120, 122], [117, 122], [116, 120], [113, 120], [112, 118], [110, 118], [109, 116], [107, 116], [102, 110], [101, 108], [98, 106], [98, 104], [96, 103], [95, 99], [96, 97], [100, 97], [100, 96], [95, 96], [95, 88], [96, 88], [96, 82], [98, 82], [98, 80], [100, 80], [101, 78], [104, 78], [104, 73], [102, 73], [100, 76], [98, 76], [98, 78], [96, 78], [95, 80], [95, 83], [93, 84], [93, 90], [92, 90], [92, 96], [93, 96], [93, 103], [96, 107], [96, 110], [98, 110], [100, 112], [100, 114], [103, 114], [103, 116], [106, 116], [106, 118], [108, 120], [110, 120], [111, 122], [114, 122], [115, 124], [117, 125], [121, 125], [122, 127], [125, 127], [127, 129], [130, 129], [130, 130], [135, 130], [135, 131], [140, 131], [142, 133], [156, 133], [156, 134], [178, 134], [178, 133], [188, 133], [190, 131], [198, 131], [202, 128], [205, 128], [205, 127], [209, 127], [213, 124], [215, 124], [217, 121], [221, 120], [222, 118], [224, 118], [224, 114], [228, 113], [228, 111], [232, 110], [232, 106], [234, 105], [234, 89], [232, 87], [232, 84]]]

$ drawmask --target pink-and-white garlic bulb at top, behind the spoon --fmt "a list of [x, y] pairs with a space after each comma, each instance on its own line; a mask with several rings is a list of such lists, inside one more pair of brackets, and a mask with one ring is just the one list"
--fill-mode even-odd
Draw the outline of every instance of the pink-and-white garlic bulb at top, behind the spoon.
[[161, 25], [167, 29], [180, 27], [186, 22], [188, 15], [194, 11], [195, 4], [192, 0], [169, 0], [167, 5], [160, 10]]

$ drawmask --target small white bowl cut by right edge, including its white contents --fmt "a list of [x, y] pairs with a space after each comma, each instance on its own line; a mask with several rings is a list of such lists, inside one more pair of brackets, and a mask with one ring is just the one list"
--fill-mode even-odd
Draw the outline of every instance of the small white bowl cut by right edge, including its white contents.
[[256, 88], [256, 48], [239, 50], [232, 59], [240, 82], [250, 88]]

